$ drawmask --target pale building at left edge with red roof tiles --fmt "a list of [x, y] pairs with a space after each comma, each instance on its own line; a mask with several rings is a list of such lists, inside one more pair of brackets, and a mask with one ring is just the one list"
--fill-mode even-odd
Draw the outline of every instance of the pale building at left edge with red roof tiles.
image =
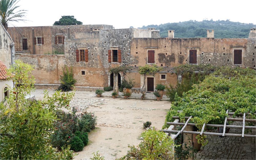
[[6, 79], [6, 70], [13, 64], [14, 42], [2, 23], [0, 24], [0, 101], [2, 101], [9, 96], [8, 87], [13, 87], [13, 82]]

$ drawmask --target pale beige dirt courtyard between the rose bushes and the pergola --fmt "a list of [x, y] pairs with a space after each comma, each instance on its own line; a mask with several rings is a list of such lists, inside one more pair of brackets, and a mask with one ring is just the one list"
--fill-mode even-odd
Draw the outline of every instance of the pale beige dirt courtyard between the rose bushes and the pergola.
[[[47, 89], [49, 95], [55, 91]], [[36, 89], [36, 99], [43, 98], [43, 90]], [[115, 159], [126, 155], [128, 144], [138, 145], [140, 134], [145, 131], [143, 123], [151, 121], [151, 127], [161, 129], [169, 101], [139, 100], [96, 97], [94, 92], [76, 91], [70, 106], [81, 111], [94, 112], [97, 116], [96, 129], [89, 133], [89, 144], [74, 159], [90, 159], [97, 152], [105, 159]]]

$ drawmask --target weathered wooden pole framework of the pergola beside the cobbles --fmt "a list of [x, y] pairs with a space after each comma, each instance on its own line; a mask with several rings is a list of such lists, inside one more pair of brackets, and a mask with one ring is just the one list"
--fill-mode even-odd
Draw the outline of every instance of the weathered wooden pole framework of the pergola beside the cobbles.
[[[182, 111], [178, 111], [178, 112], [182, 112]], [[234, 115], [234, 112], [228, 112], [228, 110], [226, 111], [226, 113], [228, 115]], [[244, 134], [244, 129], [256, 129], [256, 126], [246, 126], [245, 125], [245, 122], [254, 122], [254, 123], [256, 122], [256, 119], [246, 119], [246, 115], [251, 115], [251, 113], [240, 113], [239, 116], [243, 116], [243, 118], [228, 118], [228, 117], [225, 117], [225, 122], [224, 122], [223, 125], [204, 123], [201, 132], [184, 131], [184, 129], [186, 128], [187, 125], [196, 126], [196, 123], [188, 123], [189, 120], [193, 116], [185, 117], [185, 119], [187, 119], [186, 123], [179, 123], [180, 118], [178, 116], [173, 116], [172, 118], [175, 119], [174, 122], [167, 122], [167, 124], [171, 124], [170, 127], [167, 130], [160, 130], [160, 131], [166, 132], [168, 134], [168, 136], [172, 137], [172, 139], [177, 138], [177, 136], [180, 133], [199, 134], [199, 135], [216, 135], [216, 136], [222, 136], [222, 137], [224, 137], [224, 136], [234, 136], [234, 137], [242, 137], [242, 138], [244, 138], [244, 137], [256, 138], [256, 135]], [[227, 121], [242, 121], [243, 125], [227, 125]], [[183, 125], [183, 128], [180, 131], [173, 130], [175, 125]], [[204, 132], [205, 126], [208, 126], [208, 127], [223, 127], [223, 133]], [[240, 129], [242, 129], [242, 133], [241, 134], [225, 133], [226, 128], [240, 128]], [[176, 135], [175, 134], [171, 135], [170, 133], [177, 133], [177, 134]]]

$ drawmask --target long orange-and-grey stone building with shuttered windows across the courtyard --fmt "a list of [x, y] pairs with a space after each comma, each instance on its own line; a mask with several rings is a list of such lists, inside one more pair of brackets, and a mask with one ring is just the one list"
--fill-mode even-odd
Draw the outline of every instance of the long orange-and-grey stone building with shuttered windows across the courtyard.
[[[135, 88], [145, 86], [146, 92], [154, 91], [156, 84], [175, 86], [177, 75], [172, 74], [172, 67], [182, 64], [255, 68], [253, 29], [249, 38], [228, 39], [215, 39], [214, 30], [207, 30], [207, 38], [174, 38], [174, 30], [160, 38], [154, 28], [113, 29], [110, 25], [9, 27], [9, 32], [15, 44], [22, 46], [16, 58], [35, 65], [37, 84], [59, 84], [64, 65], [73, 66], [77, 89], [117, 86], [123, 78], [131, 77]], [[26, 44], [30, 47], [24, 48]], [[44, 54], [55, 51], [64, 54]], [[138, 66], [146, 64], [163, 66], [164, 70], [155, 77], [143, 77]], [[133, 70], [125, 75], [109, 73], [120, 65], [132, 66]]]

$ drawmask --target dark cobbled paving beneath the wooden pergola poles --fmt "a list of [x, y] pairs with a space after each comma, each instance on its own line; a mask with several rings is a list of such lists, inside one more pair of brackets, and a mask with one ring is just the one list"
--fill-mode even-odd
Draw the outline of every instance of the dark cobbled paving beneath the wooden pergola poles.
[[[242, 125], [234, 122], [232, 125]], [[217, 129], [209, 130], [217, 133]], [[242, 134], [242, 129], [231, 128], [229, 133]], [[245, 134], [255, 135], [255, 130]], [[194, 159], [256, 159], [255, 138], [224, 137], [208, 135], [209, 143], [202, 146]]]

